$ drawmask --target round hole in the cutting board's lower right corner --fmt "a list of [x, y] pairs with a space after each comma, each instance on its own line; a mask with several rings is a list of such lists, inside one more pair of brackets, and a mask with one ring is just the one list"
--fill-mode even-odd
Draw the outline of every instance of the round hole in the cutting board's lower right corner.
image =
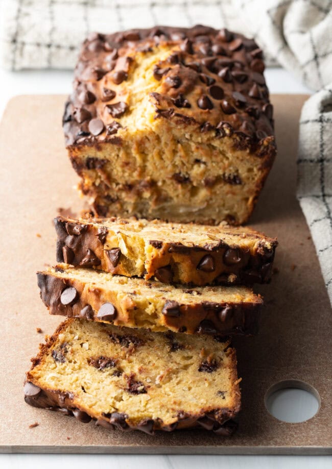
[[268, 412], [282, 422], [305, 422], [316, 415], [320, 404], [318, 391], [300, 380], [279, 381], [265, 394]]

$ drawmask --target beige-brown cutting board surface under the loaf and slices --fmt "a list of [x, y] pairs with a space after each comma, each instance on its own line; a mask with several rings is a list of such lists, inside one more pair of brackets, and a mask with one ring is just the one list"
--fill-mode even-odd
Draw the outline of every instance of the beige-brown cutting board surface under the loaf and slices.
[[[43, 334], [63, 318], [39, 298], [36, 271], [55, 263], [52, 219], [60, 207], [83, 207], [64, 150], [64, 96], [17, 96], [0, 127], [1, 340], [0, 451], [67, 453], [326, 454], [332, 446], [331, 309], [309, 229], [295, 198], [298, 119], [306, 96], [274, 95], [278, 156], [250, 225], [277, 236], [272, 283], [256, 287], [266, 301], [260, 333], [238, 338], [243, 410], [231, 438], [204, 430], [107, 432], [93, 423], [36, 409], [22, 384]], [[310, 131], [310, 129], [309, 129]], [[39, 237], [40, 236], [40, 237]], [[43, 334], [38, 334], [40, 327]], [[265, 408], [274, 383], [297, 379], [317, 389], [318, 413], [299, 424]], [[29, 425], [39, 425], [29, 429]], [[70, 438], [70, 439], [69, 439]]]

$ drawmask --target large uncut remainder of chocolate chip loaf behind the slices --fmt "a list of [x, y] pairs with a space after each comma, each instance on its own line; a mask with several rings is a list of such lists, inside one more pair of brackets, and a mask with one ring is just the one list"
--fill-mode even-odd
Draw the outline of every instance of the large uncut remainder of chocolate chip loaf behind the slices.
[[255, 41], [227, 30], [90, 35], [63, 129], [96, 213], [244, 223], [276, 152], [263, 71]]

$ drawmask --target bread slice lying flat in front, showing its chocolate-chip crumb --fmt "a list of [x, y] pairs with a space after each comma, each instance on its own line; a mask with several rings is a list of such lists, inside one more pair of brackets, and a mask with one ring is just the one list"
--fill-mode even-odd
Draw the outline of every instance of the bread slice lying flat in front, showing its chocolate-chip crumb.
[[227, 435], [240, 410], [229, 345], [69, 318], [32, 359], [25, 400], [107, 429], [200, 427]]

